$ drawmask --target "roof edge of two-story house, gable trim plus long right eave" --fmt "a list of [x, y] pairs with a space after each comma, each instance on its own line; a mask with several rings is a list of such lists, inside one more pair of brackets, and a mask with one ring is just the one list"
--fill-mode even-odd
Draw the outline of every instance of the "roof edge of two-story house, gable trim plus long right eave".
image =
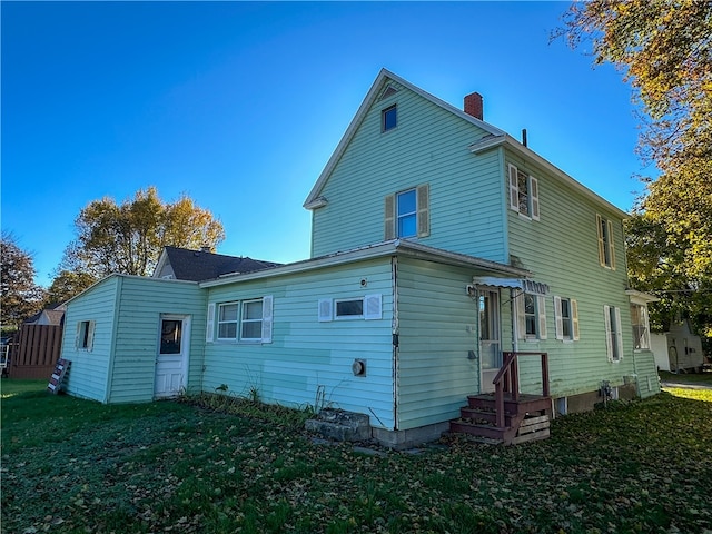
[[453, 106], [451, 103], [447, 103], [447, 102], [445, 102], [444, 100], [441, 100], [437, 97], [434, 97], [429, 92], [424, 91], [419, 87], [414, 86], [409, 81], [404, 80], [399, 76], [394, 75], [393, 72], [390, 72], [390, 71], [388, 71], [386, 69], [380, 69], [380, 72], [376, 77], [376, 80], [374, 81], [374, 83], [370, 86], [370, 89], [368, 90], [368, 93], [366, 95], [366, 98], [364, 98], [364, 101], [359, 106], [358, 111], [356, 111], [356, 115], [354, 116], [354, 118], [352, 119], [350, 123], [348, 125], [348, 128], [346, 129], [346, 132], [344, 134], [344, 137], [342, 137], [342, 140], [337, 145], [336, 150], [334, 150], [334, 154], [332, 155], [332, 157], [327, 161], [326, 167], [324, 167], [324, 170], [322, 171], [322, 174], [317, 178], [316, 184], [312, 188], [312, 191], [309, 192], [307, 199], [304, 202], [304, 207], [306, 209], [315, 209], [315, 208], [319, 208], [319, 207], [325, 205], [325, 199], [323, 197], [320, 197], [320, 194], [322, 194], [322, 189], [324, 188], [324, 185], [326, 184], [326, 180], [328, 179], [328, 177], [330, 176], [332, 171], [334, 170], [334, 167], [336, 167], [336, 164], [342, 158], [344, 151], [348, 147], [348, 145], [352, 141], [353, 137], [356, 135], [356, 131], [358, 130], [358, 127], [363, 122], [363, 120], [364, 120], [366, 113], [368, 112], [368, 110], [370, 109], [372, 105], [379, 98], [383, 89], [386, 87], [388, 81], [395, 81], [395, 82], [406, 87], [411, 91], [415, 92], [416, 95], [419, 95], [421, 97], [425, 98], [426, 100], [431, 101], [432, 103], [434, 103], [434, 105], [445, 109], [446, 111], [449, 111], [451, 113], [456, 115], [461, 119], [464, 119], [464, 120], [466, 120], [466, 121], [479, 127], [481, 129], [485, 130], [488, 134], [488, 136], [485, 136], [479, 141], [476, 141], [476, 142], [474, 142], [473, 145], [469, 146], [469, 150], [473, 154], [478, 154], [478, 152], [482, 152], [482, 151], [485, 151], [485, 150], [488, 150], [491, 148], [495, 148], [495, 147], [498, 147], [498, 146], [506, 146], [508, 149], [520, 154], [524, 158], [528, 158], [530, 160], [533, 160], [537, 165], [541, 165], [546, 170], [552, 172], [560, 181], [562, 181], [562, 182], [564, 182], [564, 184], [566, 184], [568, 186], [572, 186], [574, 189], [576, 189], [580, 192], [582, 192], [585, 197], [587, 197], [587, 198], [590, 198], [590, 199], [592, 199], [592, 200], [594, 200], [594, 201], [596, 201], [599, 204], [603, 204], [604, 206], [606, 206], [607, 209], [612, 210], [613, 212], [615, 212], [621, 218], [627, 218], [629, 217], [629, 215], [625, 211], [623, 211], [619, 207], [614, 206], [613, 204], [611, 204], [610, 201], [607, 201], [603, 197], [599, 196], [597, 194], [593, 192], [591, 189], [589, 189], [583, 184], [581, 184], [580, 181], [577, 181], [574, 178], [572, 178], [571, 176], [568, 176], [566, 172], [564, 172], [558, 167], [556, 167], [553, 164], [551, 164], [545, 158], [541, 157], [538, 154], [536, 154], [531, 148], [525, 147], [523, 144], [521, 144], [520, 141], [514, 139], [512, 136], [510, 136], [506, 131], [501, 130], [500, 128], [496, 128], [496, 127], [490, 125], [488, 122], [479, 120], [476, 117], [473, 117], [473, 116], [466, 113], [465, 111], [456, 108], [455, 106]]

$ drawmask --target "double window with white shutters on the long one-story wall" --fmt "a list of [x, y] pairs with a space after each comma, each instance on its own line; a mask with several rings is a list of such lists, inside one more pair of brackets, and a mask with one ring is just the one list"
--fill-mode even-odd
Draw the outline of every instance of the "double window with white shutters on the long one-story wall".
[[[216, 305], [208, 305], [206, 342], [212, 342]], [[219, 342], [271, 343], [273, 296], [217, 305]]]

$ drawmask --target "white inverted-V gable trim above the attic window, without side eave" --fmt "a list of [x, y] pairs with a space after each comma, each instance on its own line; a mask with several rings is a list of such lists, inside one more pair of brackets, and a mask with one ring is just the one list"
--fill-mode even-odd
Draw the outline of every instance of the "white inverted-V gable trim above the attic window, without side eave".
[[318, 208], [318, 207], [323, 206], [323, 201], [319, 199], [319, 195], [322, 194], [322, 189], [323, 189], [324, 185], [326, 184], [326, 180], [328, 179], [329, 175], [334, 170], [334, 167], [336, 167], [336, 164], [339, 161], [339, 159], [342, 159], [342, 156], [343, 156], [344, 151], [348, 147], [348, 145], [352, 141], [353, 137], [356, 135], [356, 131], [358, 130], [358, 127], [360, 126], [360, 123], [364, 121], [364, 118], [366, 117], [366, 113], [370, 109], [372, 105], [376, 101], [376, 99], [380, 96], [380, 91], [384, 89], [386, 83], [388, 83], [388, 81], [395, 81], [395, 82], [404, 86], [405, 88], [409, 89], [411, 91], [415, 92], [416, 95], [419, 95], [421, 97], [423, 97], [426, 100], [431, 101], [435, 106], [438, 106], [438, 107], [449, 111], [451, 113], [457, 115], [459, 118], [462, 118], [462, 119], [464, 119], [464, 120], [466, 120], [468, 122], [472, 122], [473, 125], [482, 128], [483, 130], [485, 130], [486, 132], [488, 132], [492, 136], [504, 136], [505, 135], [505, 132], [503, 130], [501, 130], [500, 128], [495, 128], [494, 126], [488, 125], [487, 122], [485, 122], [483, 120], [479, 120], [479, 119], [473, 117], [472, 115], [467, 115], [462, 109], [457, 109], [455, 106], [453, 106], [451, 103], [447, 103], [445, 100], [441, 100], [439, 98], [434, 97], [429, 92], [426, 92], [423, 89], [421, 89], [419, 87], [414, 86], [409, 81], [404, 80], [403, 78], [400, 78], [397, 75], [394, 75], [389, 70], [380, 69], [380, 72], [378, 72], [378, 76], [376, 77], [376, 80], [370, 86], [370, 89], [368, 90], [368, 93], [366, 93], [366, 98], [364, 98], [364, 101], [358, 107], [358, 111], [356, 111], [356, 115], [354, 116], [354, 118], [352, 119], [350, 123], [348, 125], [348, 128], [346, 128], [346, 132], [344, 134], [344, 137], [342, 137], [342, 140], [337, 145], [336, 150], [334, 150], [334, 154], [332, 155], [332, 157], [327, 161], [326, 167], [324, 167], [324, 170], [322, 171], [322, 174], [319, 175], [318, 179], [316, 180], [316, 184], [312, 188], [312, 191], [309, 192], [309, 196], [304, 201], [304, 207], [306, 209], [314, 209], [314, 208]]

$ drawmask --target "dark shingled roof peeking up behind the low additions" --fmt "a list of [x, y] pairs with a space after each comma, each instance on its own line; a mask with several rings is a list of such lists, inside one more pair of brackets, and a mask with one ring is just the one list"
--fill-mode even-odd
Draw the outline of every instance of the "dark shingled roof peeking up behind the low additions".
[[226, 256], [207, 250], [165, 247], [154, 277], [158, 277], [167, 264], [172, 268], [176, 279], [191, 281], [210, 280], [229, 273], [253, 273], [281, 265], [246, 256]]

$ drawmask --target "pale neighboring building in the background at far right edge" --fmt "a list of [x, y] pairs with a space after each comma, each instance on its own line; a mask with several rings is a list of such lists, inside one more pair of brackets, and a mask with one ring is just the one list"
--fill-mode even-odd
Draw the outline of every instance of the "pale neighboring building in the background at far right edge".
[[655, 363], [661, 370], [672, 373], [700, 373], [704, 366], [702, 339], [689, 319], [674, 322], [670, 330], [651, 335]]

